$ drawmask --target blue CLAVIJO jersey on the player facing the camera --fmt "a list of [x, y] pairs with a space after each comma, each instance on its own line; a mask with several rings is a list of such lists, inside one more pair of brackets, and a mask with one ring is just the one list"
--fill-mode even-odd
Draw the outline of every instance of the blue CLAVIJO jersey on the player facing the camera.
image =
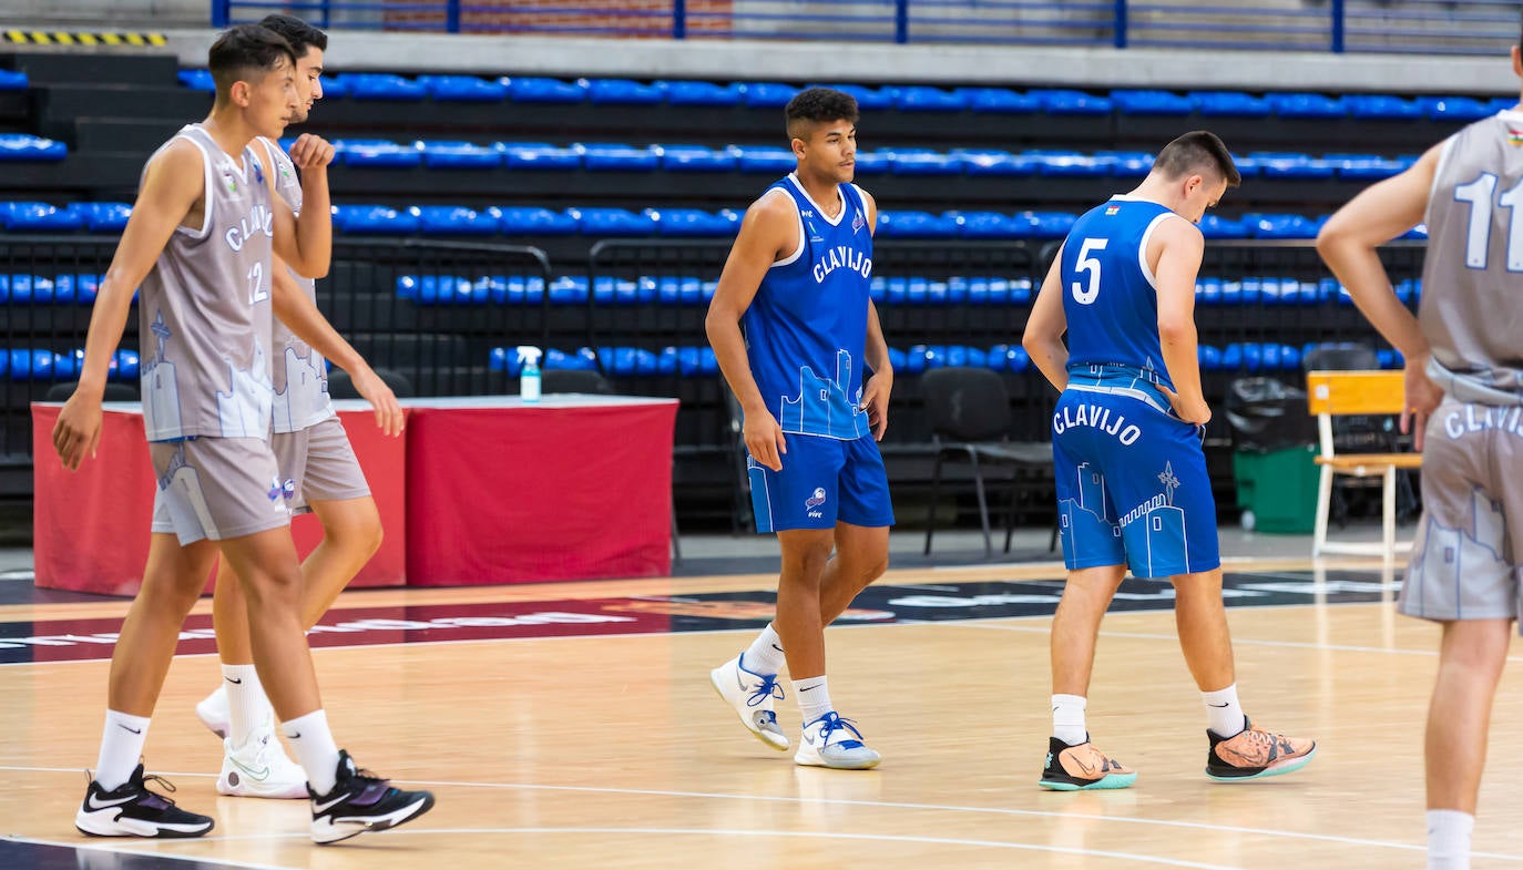
[[870, 436], [860, 410], [873, 276], [867, 206], [856, 186], [841, 184], [842, 209], [830, 221], [797, 177], [772, 187], [792, 198], [801, 239], [772, 264], [742, 318], [751, 376], [783, 431]]

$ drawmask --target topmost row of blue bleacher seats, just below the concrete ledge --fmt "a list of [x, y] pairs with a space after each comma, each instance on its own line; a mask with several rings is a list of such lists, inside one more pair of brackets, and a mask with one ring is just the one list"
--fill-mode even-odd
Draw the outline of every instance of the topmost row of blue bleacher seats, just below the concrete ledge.
[[[213, 91], [207, 70], [180, 70], [180, 82], [192, 90]], [[416, 79], [390, 73], [341, 73], [323, 76], [323, 94], [375, 101], [440, 102], [525, 102], [592, 105], [708, 105], [708, 107], [783, 107], [800, 88], [780, 82], [702, 82], [632, 79], [560, 81], [536, 76], [478, 78], [463, 75], [425, 75]], [[1517, 104], [1514, 99], [1477, 101], [1465, 96], [1422, 96], [1403, 99], [1390, 94], [1188, 91], [1118, 88], [1109, 94], [1080, 90], [1034, 88], [1017, 91], [998, 87], [938, 88], [931, 85], [885, 85], [868, 88], [851, 84], [829, 85], [856, 98], [864, 111], [976, 111], [1002, 114], [1193, 114], [1215, 117], [1418, 117], [1473, 120]]]

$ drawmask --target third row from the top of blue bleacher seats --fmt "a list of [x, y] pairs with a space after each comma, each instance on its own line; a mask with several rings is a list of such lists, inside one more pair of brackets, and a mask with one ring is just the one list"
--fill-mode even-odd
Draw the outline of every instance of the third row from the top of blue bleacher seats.
[[[125, 203], [0, 203], [0, 227], [8, 232], [122, 232], [131, 215]], [[877, 215], [877, 238], [905, 239], [1060, 239], [1077, 215], [1068, 212], [906, 212]], [[1206, 215], [1200, 230], [1214, 239], [1311, 239], [1327, 216], [1250, 212], [1238, 218]], [[725, 238], [740, 225], [733, 209], [565, 209], [533, 206], [468, 209], [465, 206], [334, 206], [334, 229], [384, 236], [675, 236]], [[1427, 238], [1416, 227], [1403, 238]]]

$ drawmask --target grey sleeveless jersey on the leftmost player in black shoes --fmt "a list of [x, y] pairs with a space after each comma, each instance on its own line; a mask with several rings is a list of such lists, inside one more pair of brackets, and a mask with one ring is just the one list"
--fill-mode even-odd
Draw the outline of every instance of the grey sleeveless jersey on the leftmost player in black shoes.
[[206, 218], [175, 227], [140, 288], [143, 428], [151, 442], [268, 439], [274, 215], [262, 157], [244, 148], [233, 160], [196, 123], [169, 143], [180, 139], [201, 151]]

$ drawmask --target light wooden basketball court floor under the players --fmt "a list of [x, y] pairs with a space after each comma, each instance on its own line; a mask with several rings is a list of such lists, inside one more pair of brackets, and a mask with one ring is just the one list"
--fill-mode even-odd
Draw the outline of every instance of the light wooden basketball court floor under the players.
[[[146, 759], [216, 830], [79, 835], [111, 649], [90, 632], [111, 631], [126, 605], [0, 608], [0, 652], [12, 655], [0, 666], [0, 867], [1422, 867], [1436, 629], [1394, 613], [1378, 562], [1228, 570], [1234, 605], [1264, 605], [1229, 611], [1246, 708], [1316, 737], [1316, 760], [1258, 783], [1206, 780], [1205, 715], [1159, 609], [1167, 593], [1129, 585], [1121, 606], [1145, 609], [1104, 623], [1089, 725], [1141, 776], [1127, 791], [1077, 794], [1036, 785], [1049, 727], [1042, 614], [1060, 565], [891, 571], [829, 632], [832, 696], [883, 754], [868, 772], [798, 768], [714, 696], [708, 669], [765, 625], [769, 576], [347, 593], [324, 625], [350, 628], [314, 635], [358, 643], [315, 651], [340, 745], [439, 804], [337, 847], [311, 844], [303, 801], [215, 794], [221, 745], [192, 705], [218, 670], [196, 637], [169, 675]], [[55, 661], [70, 657], [84, 660]], [[792, 698], [778, 713], [797, 739]], [[1514, 666], [1494, 715], [1477, 868], [1523, 867], [1520, 744]]]

